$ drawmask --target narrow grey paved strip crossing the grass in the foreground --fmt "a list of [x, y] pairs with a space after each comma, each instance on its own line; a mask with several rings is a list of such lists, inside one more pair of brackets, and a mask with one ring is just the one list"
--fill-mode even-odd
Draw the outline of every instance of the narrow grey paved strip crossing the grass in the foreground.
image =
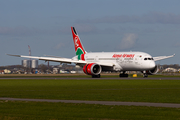
[[5, 101], [32, 101], [32, 102], [62, 102], [62, 103], [84, 103], [100, 105], [125, 105], [125, 106], [148, 106], [148, 107], [168, 107], [180, 108], [180, 104], [172, 103], [145, 103], [145, 102], [114, 102], [114, 101], [83, 101], [83, 100], [50, 100], [50, 99], [23, 99], [23, 98], [0, 98]]

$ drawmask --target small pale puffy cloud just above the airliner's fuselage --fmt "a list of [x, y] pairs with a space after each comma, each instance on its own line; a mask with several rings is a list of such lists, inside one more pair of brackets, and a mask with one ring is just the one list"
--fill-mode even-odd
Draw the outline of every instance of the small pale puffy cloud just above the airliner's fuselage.
[[133, 33], [125, 34], [120, 42], [120, 45], [117, 48], [121, 50], [130, 49], [136, 44], [137, 38], [138, 35], [136, 34]]

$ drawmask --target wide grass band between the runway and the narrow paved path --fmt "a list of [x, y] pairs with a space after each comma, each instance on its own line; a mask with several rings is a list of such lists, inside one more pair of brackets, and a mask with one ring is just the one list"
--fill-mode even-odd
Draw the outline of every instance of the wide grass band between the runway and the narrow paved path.
[[0, 80], [0, 97], [180, 103], [180, 80]]

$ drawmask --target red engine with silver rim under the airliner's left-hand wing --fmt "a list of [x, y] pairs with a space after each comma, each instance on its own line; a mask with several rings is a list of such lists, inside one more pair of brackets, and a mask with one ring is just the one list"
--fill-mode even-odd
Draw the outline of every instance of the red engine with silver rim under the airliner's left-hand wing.
[[98, 75], [101, 73], [101, 66], [96, 63], [89, 63], [83, 67], [83, 72], [88, 75]]

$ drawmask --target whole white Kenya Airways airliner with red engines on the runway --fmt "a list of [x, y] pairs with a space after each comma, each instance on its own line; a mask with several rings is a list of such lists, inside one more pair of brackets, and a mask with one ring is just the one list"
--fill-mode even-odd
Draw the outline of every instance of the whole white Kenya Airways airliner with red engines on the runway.
[[60, 63], [75, 63], [83, 68], [83, 72], [92, 78], [100, 78], [101, 72], [119, 72], [119, 77], [128, 77], [127, 71], [141, 71], [143, 77], [154, 75], [158, 72], [155, 61], [174, 57], [158, 56], [152, 57], [145, 52], [86, 52], [74, 27], [71, 27], [76, 56], [73, 58], [62, 58], [56, 56], [37, 57], [12, 55], [9, 56], [33, 58], [44, 61]]

